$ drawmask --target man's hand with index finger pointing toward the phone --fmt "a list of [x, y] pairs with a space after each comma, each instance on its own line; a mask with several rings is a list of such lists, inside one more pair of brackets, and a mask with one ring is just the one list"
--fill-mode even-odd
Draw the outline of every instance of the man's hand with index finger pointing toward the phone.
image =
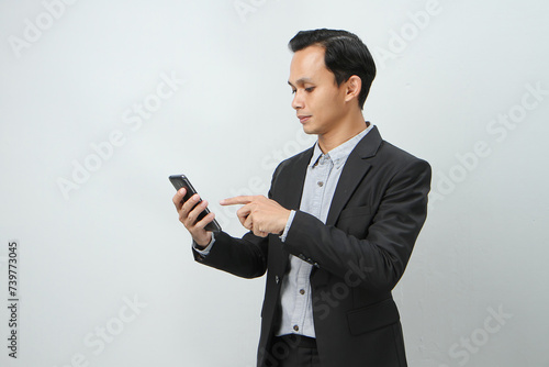
[[238, 220], [245, 229], [260, 237], [266, 237], [269, 233], [282, 234], [290, 216], [290, 210], [262, 194], [228, 198], [220, 201], [220, 204], [244, 204], [236, 212]]

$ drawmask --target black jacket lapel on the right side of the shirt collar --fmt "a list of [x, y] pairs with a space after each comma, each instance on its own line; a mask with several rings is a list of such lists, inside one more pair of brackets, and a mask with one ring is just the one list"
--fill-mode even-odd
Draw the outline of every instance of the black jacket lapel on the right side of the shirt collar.
[[328, 218], [326, 219], [327, 225], [334, 225], [336, 223], [339, 213], [347, 204], [347, 201], [349, 201], [350, 196], [355, 192], [355, 189], [362, 181], [371, 167], [367, 158], [376, 155], [381, 142], [382, 140], [378, 127], [373, 126], [350, 153], [343, 168], [339, 181], [337, 182], [334, 198], [332, 199]]

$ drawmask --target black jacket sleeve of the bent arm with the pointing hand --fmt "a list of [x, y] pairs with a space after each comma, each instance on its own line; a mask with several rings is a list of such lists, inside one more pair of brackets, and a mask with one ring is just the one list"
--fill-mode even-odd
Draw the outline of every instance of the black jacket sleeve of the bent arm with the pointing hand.
[[[359, 287], [391, 290], [401, 278], [427, 215], [430, 166], [414, 159], [399, 169], [386, 185], [371, 220], [362, 215], [366, 238], [357, 238], [336, 225], [326, 225], [302, 211], [295, 213], [284, 247], [318, 268], [347, 279], [360, 278]], [[368, 177], [366, 177], [368, 179]], [[340, 221], [344, 219], [340, 218]]]

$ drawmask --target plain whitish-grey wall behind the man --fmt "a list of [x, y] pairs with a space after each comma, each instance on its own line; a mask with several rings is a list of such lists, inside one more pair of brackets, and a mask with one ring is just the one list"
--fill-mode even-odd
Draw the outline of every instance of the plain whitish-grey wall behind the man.
[[[188, 175], [242, 235], [219, 200], [267, 193], [278, 162], [314, 141], [290, 107], [287, 43], [334, 27], [374, 54], [365, 118], [434, 168], [394, 291], [410, 365], [549, 366], [548, 11], [539, 0], [1, 1], [0, 365], [254, 366], [265, 280], [192, 260], [167, 177]], [[171, 96], [155, 97], [159, 86]], [[145, 102], [155, 111], [137, 125]], [[509, 113], [517, 122], [497, 122]], [[86, 163], [88, 176], [75, 174]], [[102, 327], [115, 335], [100, 351]]]

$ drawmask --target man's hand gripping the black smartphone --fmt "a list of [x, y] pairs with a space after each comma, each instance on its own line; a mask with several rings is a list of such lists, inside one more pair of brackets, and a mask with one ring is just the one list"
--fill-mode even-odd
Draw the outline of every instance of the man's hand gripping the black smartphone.
[[179, 213], [179, 221], [183, 223], [184, 227], [191, 233], [192, 240], [201, 247], [205, 248], [212, 241], [212, 233], [204, 230], [204, 227], [213, 221], [214, 213], [209, 213], [201, 221], [197, 222], [197, 218], [208, 207], [208, 201], [200, 200], [198, 193], [193, 194], [189, 200], [183, 202], [183, 197], [187, 193], [184, 188], [177, 191], [173, 196], [173, 204]]

